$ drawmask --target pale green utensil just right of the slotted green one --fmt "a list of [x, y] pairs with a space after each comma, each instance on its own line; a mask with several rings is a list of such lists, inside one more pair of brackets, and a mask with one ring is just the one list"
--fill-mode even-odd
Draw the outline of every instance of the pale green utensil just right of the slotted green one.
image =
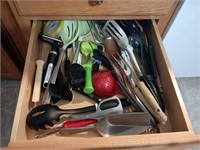
[[78, 21], [78, 22], [79, 22], [78, 46], [77, 46], [77, 49], [76, 49], [72, 63], [80, 64], [81, 63], [80, 45], [81, 45], [81, 42], [83, 41], [83, 38], [90, 33], [91, 29], [90, 29], [87, 21]]

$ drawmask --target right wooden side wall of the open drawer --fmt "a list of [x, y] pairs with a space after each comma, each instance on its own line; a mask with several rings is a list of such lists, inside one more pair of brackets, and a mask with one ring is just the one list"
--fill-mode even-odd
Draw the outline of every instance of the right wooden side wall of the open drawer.
[[193, 131], [178, 84], [160, 37], [156, 22], [152, 22], [149, 39], [154, 43], [156, 65], [163, 86], [165, 104], [173, 131]]

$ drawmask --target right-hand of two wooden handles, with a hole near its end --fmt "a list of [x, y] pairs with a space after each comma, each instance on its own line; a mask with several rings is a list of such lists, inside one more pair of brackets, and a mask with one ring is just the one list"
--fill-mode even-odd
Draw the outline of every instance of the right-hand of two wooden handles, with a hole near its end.
[[155, 114], [155, 118], [162, 124], [165, 124], [167, 121], [167, 116], [164, 114], [158, 103], [156, 102], [155, 98], [149, 91], [149, 89], [145, 86], [144, 82], [140, 81], [137, 86], [141, 90], [143, 96], [146, 100], [148, 100], [149, 105], [152, 107]]

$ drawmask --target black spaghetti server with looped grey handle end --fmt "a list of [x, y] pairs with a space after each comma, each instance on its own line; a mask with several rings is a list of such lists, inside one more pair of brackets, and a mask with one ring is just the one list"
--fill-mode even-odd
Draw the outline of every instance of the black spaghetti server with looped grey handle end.
[[68, 117], [70, 120], [82, 120], [88, 119], [88, 118], [99, 118], [101, 116], [104, 116], [106, 114], [115, 112], [115, 113], [122, 113], [123, 108], [121, 101], [116, 98], [112, 97], [107, 100], [103, 100], [101, 103], [77, 108], [77, 109], [60, 109], [56, 105], [46, 104], [46, 105], [40, 105], [35, 108], [33, 108], [26, 117], [26, 123], [29, 128], [34, 130], [39, 129], [46, 129], [47, 126], [52, 127], [55, 122], [59, 121], [61, 116], [64, 114], [81, 114], [81, 113], [89, 113], [94, 112], [88, 115], [77, 115], [74, 117]]

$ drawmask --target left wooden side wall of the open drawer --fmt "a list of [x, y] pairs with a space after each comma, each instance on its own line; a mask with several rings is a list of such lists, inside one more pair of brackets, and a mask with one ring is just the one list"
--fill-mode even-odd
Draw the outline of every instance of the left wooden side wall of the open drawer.
[[11, 134], [11, 142], [16, 140], [26, 140], [26, 115], [28, 114], [30, 108], [29, 103], [32, 96], [32, 85], [34, 82], [34, 75], [36, 69], [36, 59], [38, 58], [39, 50], [38, 50], [38, 39], [37, 34], [41, 28], [40, 24], [34, 22], [32, 25], [30, 43], [28, 46], [26, 63], [24, 67], [24, 72], [22, 76], [22, 82], [20, 87], [20, 93], [18, 97], [18, 103], [15, 112], [15, 118], [13, 122], [12, 134]]

